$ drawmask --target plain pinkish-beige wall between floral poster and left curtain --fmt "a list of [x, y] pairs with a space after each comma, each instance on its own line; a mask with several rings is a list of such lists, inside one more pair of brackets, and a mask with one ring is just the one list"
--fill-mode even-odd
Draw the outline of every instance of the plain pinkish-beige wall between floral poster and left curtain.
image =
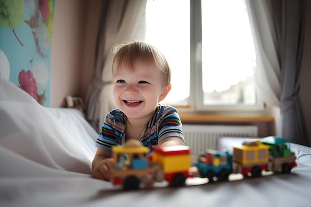
[[51, 107], [85, 97], [92, 75], [100, 0], [56, 0], [51, 46]]

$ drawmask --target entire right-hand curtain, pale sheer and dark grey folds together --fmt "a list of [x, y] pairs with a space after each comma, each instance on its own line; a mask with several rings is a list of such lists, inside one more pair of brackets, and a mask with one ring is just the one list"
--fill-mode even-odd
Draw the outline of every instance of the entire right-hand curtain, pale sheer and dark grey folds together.
[[258, 54], [255, 76], [267, 104], [280, 107], [280, 136], [309, 145], [299, 100], [306, 0], [246, 0]]

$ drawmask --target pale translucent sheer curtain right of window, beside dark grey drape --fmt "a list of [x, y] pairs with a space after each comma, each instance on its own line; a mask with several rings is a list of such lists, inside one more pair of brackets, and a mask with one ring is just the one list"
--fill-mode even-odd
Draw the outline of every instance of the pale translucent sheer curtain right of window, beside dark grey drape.
[[276, 136], [281, 136], [280, 97], [281, 66], [278, 60], [278, 41], [266, 0], [245, 0], [256, 52], [255, 81], [257, 93], [275, 119]]

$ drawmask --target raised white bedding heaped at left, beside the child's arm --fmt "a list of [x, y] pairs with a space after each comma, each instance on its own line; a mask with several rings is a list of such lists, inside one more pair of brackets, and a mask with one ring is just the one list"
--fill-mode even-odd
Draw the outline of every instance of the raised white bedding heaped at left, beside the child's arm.
[[78, 110], [43, 107], [0, 76], [0, 123], [0, 175], [91, 174], [98, 135]]

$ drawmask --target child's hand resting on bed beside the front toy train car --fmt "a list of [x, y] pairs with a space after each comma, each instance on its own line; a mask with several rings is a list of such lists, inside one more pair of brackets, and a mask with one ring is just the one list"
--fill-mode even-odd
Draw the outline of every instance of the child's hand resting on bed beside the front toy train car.
[[109, 181], [113, 163], [113, 158], [107, 158], [98, 162], [93, 169], [93, 177]]

